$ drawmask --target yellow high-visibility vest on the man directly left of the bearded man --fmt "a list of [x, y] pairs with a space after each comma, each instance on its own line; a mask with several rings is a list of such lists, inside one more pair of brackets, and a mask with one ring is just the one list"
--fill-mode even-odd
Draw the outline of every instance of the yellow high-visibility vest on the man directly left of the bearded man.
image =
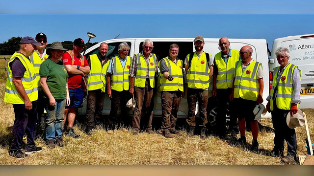
[[[181, 60], [178, 60], [177, 64], [175, 64], [169, 59], [169, 56], [163, 58], [162, 60], [164, 60], [166, 65], [168, 66], [168, 73], [173, 77], [173, 80], [169, 81], [168, 79], [164, 78], [163, 74], [160, 71], [160, 91], [183, 91], [183, 62]], [[162, 60], [158, 62], [159, 70], [161, 68], [160, 63]]]

